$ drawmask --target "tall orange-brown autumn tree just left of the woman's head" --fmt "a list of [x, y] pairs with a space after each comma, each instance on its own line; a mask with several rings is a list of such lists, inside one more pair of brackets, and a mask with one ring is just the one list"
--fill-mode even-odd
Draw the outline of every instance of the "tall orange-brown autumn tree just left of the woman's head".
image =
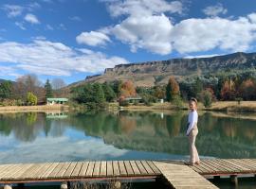
[[166, 99], [168, 102], [171, 102], [175, 98], [175, 96], [179, 95], [179, 85], [174, 77], [170, 77], [166, 86]]

